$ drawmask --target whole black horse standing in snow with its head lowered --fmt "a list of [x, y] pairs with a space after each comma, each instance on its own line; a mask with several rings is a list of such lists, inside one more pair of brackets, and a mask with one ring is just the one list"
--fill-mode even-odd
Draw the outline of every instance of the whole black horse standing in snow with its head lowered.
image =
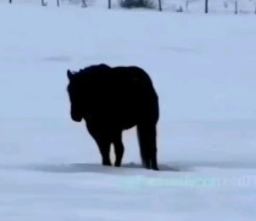
[[67, 70], [67, 92], [73, 121], [86, 122], [97, 143], [102, 165], [111, 165], [111, 144], [120, 167], [124, 153], [123, 130], [137, 127], [143, 167], [158, 170], [156, 126], [158, 95], [149, 75], [140, 67], [92, 65], [79, 72]]

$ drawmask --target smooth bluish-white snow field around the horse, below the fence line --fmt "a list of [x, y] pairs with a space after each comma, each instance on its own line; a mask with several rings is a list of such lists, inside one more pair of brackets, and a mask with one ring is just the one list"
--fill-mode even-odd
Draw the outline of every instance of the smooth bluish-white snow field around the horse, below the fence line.
[[[254, 221], [254, 16], [0, 5], [1, 221]], [[159, 163], [103, 168], [66, 70], [139, 65], [160, 97]]]

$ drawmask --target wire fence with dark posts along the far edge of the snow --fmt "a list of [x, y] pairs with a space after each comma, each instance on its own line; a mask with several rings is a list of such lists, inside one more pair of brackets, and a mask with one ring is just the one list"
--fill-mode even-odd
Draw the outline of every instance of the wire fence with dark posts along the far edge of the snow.
[[[3, 0], [2, 0], [3, 1]], [[6, 0], [10, 4], [36, 3], [44, 7], [73, 5], [77, 7], [101, 7], [116, 9], [124, 7], [125, 0]], [[133, 0], [143, 1], [143, 0]], [[256, 0], [144, 0], [154, 4], [152, 10], [160, 12], [187, 12], [187, 13], [231, 13], [231, 14], [256, 14]], [[142, 8], [142, 7], [140, 7]]]

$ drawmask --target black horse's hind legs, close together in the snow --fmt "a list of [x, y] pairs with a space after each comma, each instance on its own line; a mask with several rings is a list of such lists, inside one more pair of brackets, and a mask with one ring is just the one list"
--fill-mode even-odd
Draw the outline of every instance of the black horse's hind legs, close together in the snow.
[[137, 126], [142, 163], [145, 168], [159, 170], [157, 163], [156, 125], [140, 123]]

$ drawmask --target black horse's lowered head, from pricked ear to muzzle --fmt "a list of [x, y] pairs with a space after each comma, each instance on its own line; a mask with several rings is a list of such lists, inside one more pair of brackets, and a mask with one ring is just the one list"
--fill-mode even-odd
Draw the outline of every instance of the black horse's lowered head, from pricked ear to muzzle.
[[79, 81], [70, 70], [67, 70], [67, 78], [69, 80], [67, 93], [70, 99], [70, 115], [73, 121], [80, 122], [83, 118], [83, 111]]

